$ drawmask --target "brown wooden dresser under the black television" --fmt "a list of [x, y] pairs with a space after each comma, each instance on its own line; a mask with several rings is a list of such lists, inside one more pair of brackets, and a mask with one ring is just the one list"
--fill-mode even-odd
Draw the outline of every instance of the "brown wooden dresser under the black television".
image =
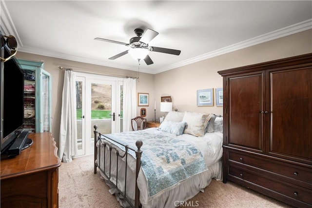
[[1, 208], [58, 208], [60, 160], [51, 133], [33, 133], [33, 145], [1, 160]]

